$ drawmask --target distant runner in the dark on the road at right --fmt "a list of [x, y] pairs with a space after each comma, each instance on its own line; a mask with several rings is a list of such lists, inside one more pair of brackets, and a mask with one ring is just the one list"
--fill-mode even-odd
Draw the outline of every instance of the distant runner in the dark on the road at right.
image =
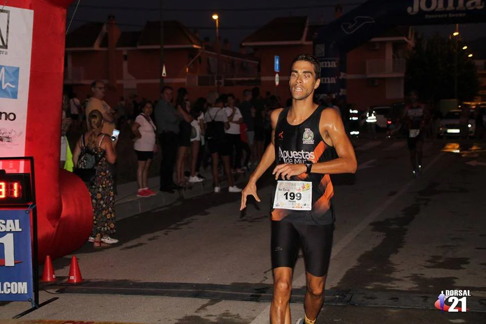
[[403, 119], [408, 127], [408, 146], [410, 150], [410, 161], [412, 173], [417, 177], [422, 171], [422, 148], [424, 146], [425, 107], [419, 103], [417, 91], [412, 90], [409, 94], [410, 104], [403, 110]]

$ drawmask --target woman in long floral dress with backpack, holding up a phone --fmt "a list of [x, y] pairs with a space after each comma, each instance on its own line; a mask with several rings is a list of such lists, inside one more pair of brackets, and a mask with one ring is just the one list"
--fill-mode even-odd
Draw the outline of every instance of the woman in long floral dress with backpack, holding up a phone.
[[90, 157], [95, 157], [96, 176], [88, 184], [93, 205], [93, 230], [89, 240], [95, 248], [100, 248], [118, 242], [110, 237], [115, 232], [115, 200], [110, 164], [115, 163], [116, 153], [110, 136], [101, 133], [101, 112], [91, 111], [88, 123], [91, 130], [77, 141], [72, 159], [76, 168], [87, 169]]

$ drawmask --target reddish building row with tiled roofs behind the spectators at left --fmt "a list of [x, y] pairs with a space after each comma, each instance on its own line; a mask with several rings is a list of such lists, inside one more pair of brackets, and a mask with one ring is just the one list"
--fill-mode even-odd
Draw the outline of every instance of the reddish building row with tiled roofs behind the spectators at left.
[[[209, 41], [178, 21], [164, 21], [164, 82], [186, 87], [191, 97], [217, 90], [240, 94], [259, 85], [258, 58], [229, 50], [220, 54]], [[217, 68], [219, 57], [219, 69]], [[108, 84], [108, 103], [137, 94], [157, 99], [160, 83], [160, 22], [148, 21], [140, 31], [120, 31], [114, 17], [87, 23], [66, 36], [65, 85], [79, 97], [89, 93], [95, 79]]]

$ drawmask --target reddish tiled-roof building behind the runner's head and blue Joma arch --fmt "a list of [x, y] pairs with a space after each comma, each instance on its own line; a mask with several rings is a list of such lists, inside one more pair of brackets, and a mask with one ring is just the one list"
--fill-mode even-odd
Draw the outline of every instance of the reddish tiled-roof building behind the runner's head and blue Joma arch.
[[[338, 16], [336, 18], [339, 18]], [[298, 54], [313, 51], [313, 40], [323, 24], [308, 17], [279, 17], [253, 31], [241, 42], [260, 59], [261, 90], [289, 98], [291, 62]], [[347, 54], [347, 101], [359, 109], [402, 101], [405, 55], [414, 44], [412, 28], [390, 28]], [[280, 70], [274, 70], [275, 56]], [[275, 74], [279, 84], [275, 86]]]

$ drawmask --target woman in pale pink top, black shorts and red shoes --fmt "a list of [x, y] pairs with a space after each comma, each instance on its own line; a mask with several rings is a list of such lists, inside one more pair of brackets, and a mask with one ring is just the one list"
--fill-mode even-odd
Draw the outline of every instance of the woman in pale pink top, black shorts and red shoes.
[[134, 148], [137, 153], [137, 184], [138, 197], [150, 197], [156, 194], [148, 187], [148, 170], [153, 159], [153, 153], [157, 152], [155, 132], [157, 128], [150, 115], [153, 106], [150, 101], [145, 102], [142, 112], [135, 118], [132, 125], [132, 132], [136, 137]]

